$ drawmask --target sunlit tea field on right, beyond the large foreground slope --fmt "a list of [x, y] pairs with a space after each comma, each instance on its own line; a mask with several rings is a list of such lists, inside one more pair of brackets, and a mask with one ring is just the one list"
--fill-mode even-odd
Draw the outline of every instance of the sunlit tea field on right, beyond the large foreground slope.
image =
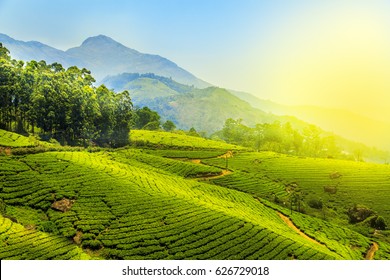
[[[225, 166], [224, 159], [203, 161]], [[307, 213], [325, 215], [342, 224], [348, 223], [348, 209], [361, 204], [390, 223], [389, 165], [263, 152], [240, 153], [229, 159], [229, 168], [234, 173], [214, 180], [215, 184], [286, 204], [289, 196], [298, 191], [303, 199], [301, 208]], [[323, 203], [325, 213], [309, 206], [313, 200]]]

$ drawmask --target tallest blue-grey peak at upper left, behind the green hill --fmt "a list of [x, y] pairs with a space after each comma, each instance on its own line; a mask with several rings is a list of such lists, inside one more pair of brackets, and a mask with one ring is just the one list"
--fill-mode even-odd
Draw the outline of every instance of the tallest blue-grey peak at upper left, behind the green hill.
[[210, 86], [164, 57], [138, 52], [104, 35], [90, 37], [81, 46], [67, 51], [35, 41], [18, 41], [4, 34], [0, 34], [0, 42], [15, 59], [45, 60], [48, 63], [59, 62], [64, 67], [85, 67], [92, 71], [98, 82], [109, 75], [130, 72], [155, 73], [199, 88]]

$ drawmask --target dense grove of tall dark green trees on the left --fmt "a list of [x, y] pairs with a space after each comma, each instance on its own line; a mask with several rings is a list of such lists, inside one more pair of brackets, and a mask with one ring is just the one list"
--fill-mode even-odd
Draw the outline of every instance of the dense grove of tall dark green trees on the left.
[[[134, 108], [128, 91], [95, 87], [91, 72], [59, 63], [11, 59], [0, 43], [0, 128], [61, 144], [119, 147], [130, 128], [159, 129], [160, 116]], [[163, 124], [172, 130], [171, 121]]]

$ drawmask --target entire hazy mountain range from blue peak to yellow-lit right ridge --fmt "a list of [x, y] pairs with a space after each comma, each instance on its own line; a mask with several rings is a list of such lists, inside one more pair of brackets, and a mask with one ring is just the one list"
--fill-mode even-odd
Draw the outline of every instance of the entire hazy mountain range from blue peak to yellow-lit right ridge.
[[0, 34], [0, 42], [15, 59], [85, 67], [98, 84], [116, 91], [130, 90], [135, 105], [156, 110], [182, 129], [195, 127], [212, 133], [221, 129], [227, 118], [241, 118], [246, 125], [280, 120], [292, 122], [295, 127], [305, 126], [299, 118], [345, 138], [390, 150], [389, 123], [345, 110], [285, 106], [249, 93], [210, 87], [166, 58], [140, 53], [107, 36], [88, 38], [67, 51], [4, 34]]

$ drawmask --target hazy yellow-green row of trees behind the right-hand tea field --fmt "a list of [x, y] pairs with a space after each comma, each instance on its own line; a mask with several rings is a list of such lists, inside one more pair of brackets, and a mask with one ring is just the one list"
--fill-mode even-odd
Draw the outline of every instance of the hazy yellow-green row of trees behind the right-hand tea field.
[[241, 119], [227, 119], [220, 137], [233, 144], [251, 147], [255, 150], [274, 151], [310, 157], [337, 156], [340, 149], [333, 136], [321, 136], [322, 131], [314, 125], [302, 132], [292, 128], [290, 123], [257, 124], [247, 127]]

